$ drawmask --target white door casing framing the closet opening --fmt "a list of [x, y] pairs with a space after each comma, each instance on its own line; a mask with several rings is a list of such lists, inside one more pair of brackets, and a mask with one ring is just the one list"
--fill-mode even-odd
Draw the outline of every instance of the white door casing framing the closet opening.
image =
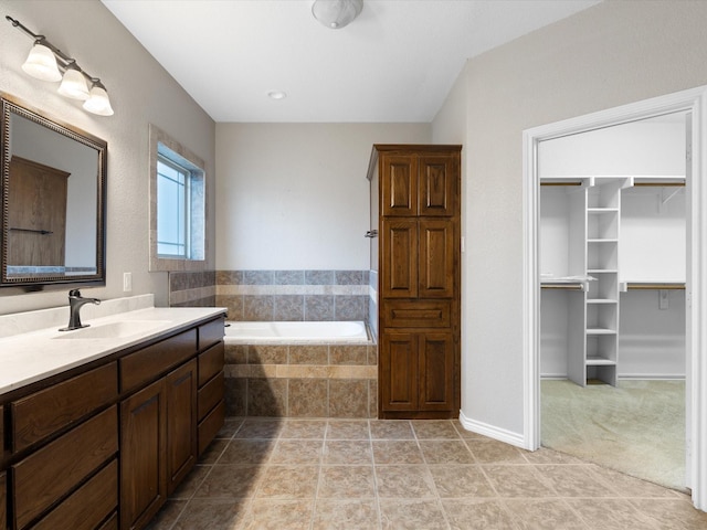
[[[540, 344], [541, 344], [541, 267], [540, 267], [540, 178], [539, 145], [544, 141], [579, 135], [595, 129], [685, 113], [690, 141], [686, 146], [686, 277], [685, 277], [685, 424], [686, 484], [697, 509], [707, 510], [707, 87], [598, 112], [524, 131], [524, 447], [540, 446]], [[611, 193], [609, 193], [611, 194]], [[589, 203], [588, 203], [589, 204]], [[608, 203], [605, 203], [608, 204]], [[589, 205], [589, 208], [613, 208]], [[602, 213], [603, 215], [603, 213]], [[601, 239], [601, 236], [587, 239]], [[594, 268], [606, 267], [605, 254], [594, 254]], [[604, 274], [609, 274], [604, 271]], [[668, 300], [669, 301], [669, 300]], [[592, 309], [593, 311], [593, 309]], [[611, 311], [609, 311], [611, 314]], [[593, 312], [594, 315], [594, 312]], [[569, 318], [569, 316], [568, 316]], [[604, 317], [602, 317], [604, 318]], [[590, 322], [588, 321], [588, 327]], [[608, 358], [612, 360], [611, 357]], [[597, 364], [592, 362], [590, 364]], [[600, 363], [601, 364], [601, 363]], [[610, 364], [610, 363], [608, 363]], [[611, 370], [600, 372], [601, 381]], [[603, 372], [603, 373], [601, 373]], [[606, 373], [609, 372], [609, 374]]]

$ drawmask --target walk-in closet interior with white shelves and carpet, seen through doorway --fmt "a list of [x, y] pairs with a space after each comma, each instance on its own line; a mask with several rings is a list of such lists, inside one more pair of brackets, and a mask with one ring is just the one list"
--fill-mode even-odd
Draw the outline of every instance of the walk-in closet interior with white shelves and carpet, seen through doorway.
[[688, 118], [538, 146], [541, 445], [679, 490]]

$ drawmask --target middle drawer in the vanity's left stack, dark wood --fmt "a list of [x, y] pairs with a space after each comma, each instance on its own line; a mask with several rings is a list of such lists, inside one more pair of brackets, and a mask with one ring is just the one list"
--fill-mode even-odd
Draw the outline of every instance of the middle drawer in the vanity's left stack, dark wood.
[[13, 528], [24, 528], [117, 451], [118, 413], [114, 405], [14, 464]]

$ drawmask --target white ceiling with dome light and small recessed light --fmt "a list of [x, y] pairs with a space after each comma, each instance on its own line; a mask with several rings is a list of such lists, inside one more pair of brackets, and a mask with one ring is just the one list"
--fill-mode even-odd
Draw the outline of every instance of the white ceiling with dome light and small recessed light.
[[313, 0], [102, 1], [219, 123], [429, 123], [467, 59], [598, 3], [365, 0], [331, 30]]

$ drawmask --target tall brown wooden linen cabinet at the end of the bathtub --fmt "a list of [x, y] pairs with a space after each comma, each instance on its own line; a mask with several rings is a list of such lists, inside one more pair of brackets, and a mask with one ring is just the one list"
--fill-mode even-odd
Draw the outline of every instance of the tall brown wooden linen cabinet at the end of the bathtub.
[[373, 146], [380, 418], [458, 415], [461, 150]]

